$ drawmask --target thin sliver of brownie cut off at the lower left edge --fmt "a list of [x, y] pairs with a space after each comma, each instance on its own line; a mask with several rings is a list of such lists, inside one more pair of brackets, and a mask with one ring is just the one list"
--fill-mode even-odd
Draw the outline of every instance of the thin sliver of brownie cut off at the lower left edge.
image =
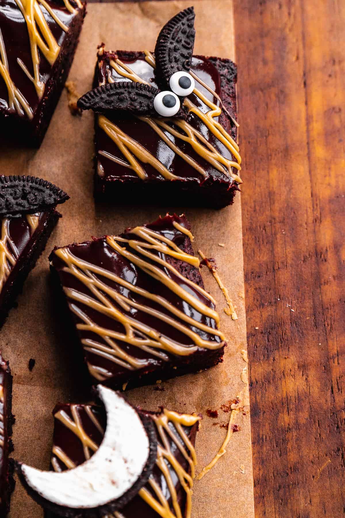
[[[0, 400], [0, 434], [3, 444], [0, 445], [0, 516], [5, 516], [9, 507], [11, 491], [13, 490], [12, 473], [9, 470], [8, 455], [13, 450], [10, 435], [12, 433], [13, 416], [12, 403], [12, 376], [8, 363], [0, 355], [0, 385], [3, 391], [3, 400]], [[10, 472], [9, 472], [10, 471]]]

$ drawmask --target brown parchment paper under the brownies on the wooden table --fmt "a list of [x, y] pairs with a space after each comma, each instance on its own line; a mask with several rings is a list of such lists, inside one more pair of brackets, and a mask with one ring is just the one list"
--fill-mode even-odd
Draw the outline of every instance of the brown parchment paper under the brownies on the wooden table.
[[[161, 26], [190, 2], [144, 2], [124, 4], [89, 4], [80, 43], [69, 74], [80, 93], [92, 85], [96, 47], [101, 41], [107, 48], [154, 49]], [[234, 59], [232, 0], [194, 2], [196, 10], [197, 54]], [[239, 70], [241, 74], [241, 70]], [[242, 131], [242, 128], [241, 128]], [[245, 129], [243, 130], [245, 134]], [[196, 236], [194, 250], [215, 257], [218, 272], [228, 287], [236, 306], [238, 320], [224, 313], [225, 300], [211, 272], [204, 267], [206, 289], [215, 296], [221, 315], [221, 327], [228, 339], [224, 362], [208, 371], [164, 382], [164, 391], [153, 386], [127, 392], [133, 404], [149, 410], [163, 405], [180, 412], [204, 415], [197, 437], [197, 473], [213, 458], [226, 437], [230, 413], [219, 411], [209, 418], [206, 409], [219, 409], [236, 398], [247, 386], [247, 364], [241, 351], [246, 349], [246, 316], [242, 256], [241, 204], [237, 194], [233, 206], [220, 211], [185, 207], [107, 207], [95, 206], [93, 200], [93, 114], [72, 117], [63, 92], [48, 133], [39, 150], [1, 150], [3, 174], [25, 174], [45, 178], [69, 193], [71, 199], [59, 210], [58, 222], [46, 251], [29, 275], [18, 308], [12, 309], [1, 330], [1, 350], [9, 359], [13, 373], [14, 457], [35, 467], [48, 469], [52, 442], [52, 409], [57, 401], [85, 401], [85, 386], [78, 378], [78, 364], [73, 358], [60, 308], [54, 301], [49, 282], [48, 255], [54, 245], [89, 239], [91, 236], [121, 233], [125, 227], [155, 220], [168, 210], [186, 211]], [[246, 178], [244, 177], [244, 180]], [[220, 247], [218, 243], [224, 243]], [[32, 372], [29, 358], [36, 359]], [[244, 372], [244, 375], [243, 375]], [[214, 425], [214, 423], [219, 423]], [[193, 518], [217, 516], [253, 516], [250, 418], [239, 413], [235, 419], [239, 431], [233, 433], [227, 453], [193, 488]], [[10, 518], [41, 518], [42, 510], [29, 498], [19, 481], [12, 497]]]

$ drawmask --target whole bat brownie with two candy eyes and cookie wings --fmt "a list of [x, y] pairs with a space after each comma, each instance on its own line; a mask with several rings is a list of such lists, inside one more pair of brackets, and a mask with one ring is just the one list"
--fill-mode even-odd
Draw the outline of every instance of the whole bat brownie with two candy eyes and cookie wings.
[[193, 21], [193, 8], [178, 13], [154, 53], [100, 45], [94, 90], [78, 102], [96, 112], [97, 200], [214, 208], [233, 202], [242, 183], [236, 65], [192, 56]]

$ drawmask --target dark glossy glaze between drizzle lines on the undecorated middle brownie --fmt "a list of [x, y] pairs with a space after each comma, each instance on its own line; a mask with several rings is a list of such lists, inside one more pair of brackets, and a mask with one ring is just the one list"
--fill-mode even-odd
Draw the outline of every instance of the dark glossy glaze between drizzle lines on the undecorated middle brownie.
[[[173, 242], [177, 244], [178, 247], [180, 247], [182, 250], [185, 250], [187, 253], [193, 254], [190, 239], [173, 226], [173, 221], [181, 223], [187, 229], [190, 228], [190, 224], [185, 216], [177, 217], [175, 214], [173, 216], [166, 216], [155, 223], [145, 226], [147, 226], [147, 228], [153, 229], [154, 231], [160, 233], [168, 239], [171, 239]], [[122, 234], [122, 236], [126, 238], [128, 238], [130, 235], [130, 229], [128, 229], [124, 234]], [[135, 239], [139, 238], [135, 236]], [[126, 243], [121, 243], [121, 246], [122, 245], [127, 247]], [[178, 295], [173, 293], [166, 286], [156, 281], [153, 277], [146, 274], [140, 268], [136, 267], [133, 263], [128, 261], [122, 255], [119, 255], [107, 244], [105, 238], [95, 239], [94, 241], [87, 241], [80, 244], [71, 244], [68, 246], [68, 249], [72, 252], [73, 255], [82, 258], [87, 262], [101, 266], [102, 268], [105, 268], [113, 272], [117, 276], [122, 277], [128, 282], [142, 287], [150, 293], [159, 294], [163, 296], [172, 305], [177, 307], [179, 310], [183, 311], [185, 314], [191, 316], [194, 320], [202, 322], [203, 324], [207, 325], [212, 329], [216, 328], [216, 323], [213, 319], [209, 318], [208, 316], [205, 316], [204, 314], [199, 313], [196, 309], [192, 308], [189, 304], [187, 304], [185, 301], [179, 298]], [[171, 256], [164, 256], [164, 254], [160, 254], [158, 252], [154, 253], [157, 253], [160, 257], [163, 258], [163, 260], [166, 260], [168, 263], [172, 264], [179, 272], [182, 273], [182, 275], [192, 280], [199, 286], [203, 287], [203, 281], [200, 272], [197, 268], [187, 263], [184, 263], [183, 261], [178, 261]], [[62, 262], [62, 260], [60, 260], [54, 254], [54, 252], [52, 252], [52, 254], [50, 255], [50, 261], [53, 270], [57, 271], [59, 281], [61, 282], [63, 287], [73, 288], [80, 291], [81, 293], [93, 296], [91, 292], [89, 292], [88, 288], [81, 281], [79, 281], [75, 276], [69, 274], [68, 272], [63, 271], [65, 263]], [[168, 270], [166, 270], [166, 274], [168, 274], [170, 278], [172, 278], [179, 285], [186, 286], [183, 279], [177, 277], [175, 274], [173, 274], [173, 272], [168, 272]], [[137, 301], [138, 303], [145, 304], [146, 306], [149, 306], [153, 309], [158, 309], [161, 312], [169, 314], [168, 310], [160, 307], [152, 300], [148, 300], [146, 298], [144, 299], [144, 297], [134, 292], [129, 293], [125, 287], [119, 286], [118, 284], [106, 279], [105, 277], [102, 277], [102, 281], [107, 283], [118, 293], [122, 293], [126, 297], [130, 297], [132, 300]], [[194, 290], [192, 286], [188, 286], [188, 290], [192, 291], [193, 294], [196, 295], [196, 297], [199, 300], [201, 300], [206, 306], [214, 309], [213, 303], [202, 293]], [[115, 301], [111, 301], [116, 306]], [[89, 316], [89, 318], [91, 318], [96, 324], [107, 329], [123, 332], [123, 325], [111, 319], [107, 315], [103, 315], [102, 313], [95, 311], [89, 306], [81, 304], [79, 301], [73, 300], [73, 304], [77, 307], [81, 307], [82, 310], [87, 314], [87, 316]], [[122, 310], [122, 308], [118, 309]], [[72, 312], [71, 314], [74, 324], [79, 323], [80, 321], [76, 314]], [[184, 333], [181, 333], [175, 327], [168, 325], [167, 323], [164, 323], [161, 320], [154, 318], [153, 316], [147, 313], [131, 308], [130, 315], [132, 316], [132, 318], [152, 326], [154, 329], [156, 329], [159, 333], [161, 333], [164, 336], [168, 336], [169, 338], [177, 340], [178, 342], [183, 343], [186, 346], [194, 345], [192, 340], [189, 337], [187, 337]], [[175, 318], [175, 320], [179, 321], [177, 317]], [[194, 332], [198, 333], [203, 339], [215, 341], [216, 343], [221, 342], [218, 336], [215, 336], [211, 333], [203, 332], [202, 330], [196, 327], [191, 327], [188, 324], [187, 326], [193, 329]], [[80, 340], [89, 338], [102, 342], [101, 337], [92, 332], [85, 330], [77, 330], [77, 333]], [[189, 366], [189, 364], [191, 363], [191, 366], [188, 367], [189, 371], [199, 370], [203, 366], [201, 365], [198, 368], [193, 369], [193, 363], [195, 364], [198, 362], [205, 362], [206, 367], [209, 366], [208, 358], [213, 358], [216, 355], [216, 358], [218, 358], [218, 360], [216, 359], [212, 364], [218, 363], [219, 358], [223, 354], [223, 348], [217, 349], [216, 351], [199, 348], [196, 352], [187, 356], [168, 354], [168, 356], [170, 357], [170, 361], [166, 362], [163, 359], [150, 354], [149, 352], [139, 349], [138, 347], [132, 346], [131, 344], [121, 342], [119, 340], [116, 340], [116, 343], [119, 347], [123, 348], [127, 353], [133, 355], [134, 357], [148, 359], [149, 365], [137, 370], [128, 370], [127, 368], [124, 368], [123, 366], [118, 365], [115, 362], [112, 362], [108, 358], [84, 350], [84, 356], [87, 363], [99, 366], [102, 369], [105, 369], [106, 371], [111, 373], [111, 377], [107, 379], [107, 381], [105, 381], [104, 384], [113, 387], [121, 386], [122, 383], [127, 382], [129, 379], [139, 378], [141, 375], [147, 372], [154, 372], [157, 376], [156, 379], [161, 379], [160, 369], [166, 368], [167, 364], [168, 366], [170, 365], [170, 367], [173, 368], [173, 366]], [[104, 342], [104, 344], [106, 344], [106, 342]], [[172, 375], [176, 376], [175, 371], [172, 373]], [[97, 380], [93, 379], [93, 382], [96, 383]]]

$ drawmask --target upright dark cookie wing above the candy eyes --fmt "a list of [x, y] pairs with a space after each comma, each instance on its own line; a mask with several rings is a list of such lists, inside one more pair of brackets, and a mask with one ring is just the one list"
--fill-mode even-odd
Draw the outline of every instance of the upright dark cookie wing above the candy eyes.
[[194, 8], [177, 13], [160, 31], [156, 47], [156, 79], [162, 88], [169, 88], [175, 72], [189, 72], [194, 48]]

